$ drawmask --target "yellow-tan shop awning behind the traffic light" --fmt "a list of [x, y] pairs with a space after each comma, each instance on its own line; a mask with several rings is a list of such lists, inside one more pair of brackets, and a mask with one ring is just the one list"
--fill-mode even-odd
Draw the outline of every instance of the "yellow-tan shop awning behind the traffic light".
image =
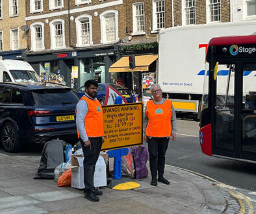
[[[136, 67], [133, 71], [148, 71], [149, 65], [157, 60], [158, 54], [140, 55], [135, 56]], [[109, 72], [129, 72], [129, 59], [128, 56], [123, 56], [109, 67]]]

